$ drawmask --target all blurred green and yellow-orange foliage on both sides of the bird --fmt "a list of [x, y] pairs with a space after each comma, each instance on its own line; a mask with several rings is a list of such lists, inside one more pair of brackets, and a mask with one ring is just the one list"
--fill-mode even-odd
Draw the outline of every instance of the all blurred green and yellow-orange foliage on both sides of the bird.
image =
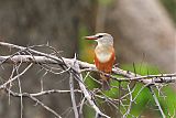
[[[86, 62], [91, 62], [94, 61], [94, 42], [92, 41], [86, 41], [84, 40], [84, 36], [88, 35], [88, 30], [85, 25], [80, 25], [79, 29], [79, 57], [82, 61]], [[125, 71], [131, 71], [131, 72], [135, 72], [140, 75], [153, 75], [153, 74], [161, 74], [163, 72], [160, 72], [158, 68], [147, 65], [147, 64], [130, 64], [130, 65], [122, 65], [121, 68], [125, 69]], [[92, 76], [96, 76], [95, 74], [91, 74]], [[86, 74], [84, 75], [86, 76]], [[117, 76], [117, 75], [114, 75]], [[117, 77], [121, 77], [121, 76], [117, 76]], [[98, 77], [95, 77], [98, 78]], [[95, 81], [92, 81], [91, 77], [87, 77], [85, 79], [85, 83], [88, 87], [88, 89], [94, 89], [94, 88], [100, 88], [101, 86], [99, 84], [97, 84]], [[128, 88], [128, 83], [127, 82], [121, 82], [121, 84], [117, 81], [111, 81], [111, 86], [114, 86], [113, 88], [111, 88], [111, 90], [109, 92], [103, 92], [103, 94], [107, 97], [110, 98], [119, 98], [119, 96], [122, 96], [122, 92], [119, 90], [119, 85], [122, 88]], [[161, 92], [166, 96], [163, 97], [164, 95], [162, 95], [161, 93], [158, 93], [157, 89], [155, 89], [155, 93], [157, 95], [157, 98], [161, 103], [162, 108], [164, 109], [165, 115], [168, 116], [169, 115], [174, 115], [174, 111], [176, 111], [176, 95], [174, 94], [174, 90], [172, 87], [166, 86], [163, 87], [161, 89]], [[125, 93], [124, 93], [125, 94]], [[136, 84], [134, 92], [132, 93], [133, 98], [135, 98], [135, 104], [132, 104], [132, 108], [130, 114], [133, 116], [140, 116], [140, 115], [147, 115], [147, 112], [154, 115], [155, 117], [161, 117], [161, 114], [158, 110], [153, 110], [156, 109], [155, 106], [155, 101], [151, 95], [151, 92], [148, 90], [147, 87], [144, 87], [143, 84]], [[101, 104], [103, 104], [103, 101], [101, 101], [102, 99], [97, 99], [98, 100], [98, 105], [101, 106]], [[129, 100], [124, 101], [124, 104], [129, 104]], [[108, 106], [107, 106], [108, 107]], [[125, 107], [128, 108], [128, 107]], [[152, 110], [151, 110], [152, 109]], [[121, 111], [125, 112], [125, 109], [121, 107]], [[92, 108], [85, 106], [84, 107], [84, 112], [86, 112], [86, 118], [91, 118], [95, 115], [95, 111]], [[128, 116], [128, 118], [132, 118], [132, 116]]]

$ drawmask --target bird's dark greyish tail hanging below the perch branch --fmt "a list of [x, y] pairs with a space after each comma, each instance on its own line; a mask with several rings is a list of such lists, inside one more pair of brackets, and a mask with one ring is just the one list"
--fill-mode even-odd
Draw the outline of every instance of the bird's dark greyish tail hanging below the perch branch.
[[111, 88], [109, 77], [105, 76], [103, 74], [100, 74], [100, 77], [102, 79], [102, 89], [109, 90]]

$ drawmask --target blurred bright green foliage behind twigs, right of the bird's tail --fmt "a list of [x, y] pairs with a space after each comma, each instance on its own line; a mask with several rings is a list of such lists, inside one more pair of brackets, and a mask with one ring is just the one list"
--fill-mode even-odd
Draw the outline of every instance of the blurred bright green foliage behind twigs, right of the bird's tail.
[[[152, 74], [161, 74], [161, 72], [154, 67], [154, 66], [150, 66], [147, 64], [136, 64], [135, 66], [135, 72], [138, 74], [141, 75], [152, 75]], [[133, 65], [122, 65], [121, 68], [127, 69], [127, 71], [131, 71], [134, 72], [134, 66]], [[119, 76], [120, 77], [120, 76]], [[128, 82], [121, 82], [121, 87], [122, 88], [128, 88]], [[111, 88], [111, 90], [109, 92], [105, 92], [106, 96], [110, 97], [110, 98], [119, 98], [119, 82], [117, 81], [111, 81], [111, 86], [117, 86], [117, 88]], [[163, 97], [164, 95], [162, 95], [157, 89], [155, 89], [155, 93], [157, 95], [157, 98], [161, 103], [161, 106], [165, 112], [165, 115], [168, 116], [169, 115], [174, 115], [174, 111], [176, 110], [176, 95], [173, 94], [174, 90], [172, 89], [172, 87], [163, 87], [161, 89], [161, 92], [166, 96]], [[123, 93], [121, 93], [123, 94]], [[124, 95], [124, 94], [123, 94]], [[122, 95], [121, 95], [122, 96]], [[132, 93], [133, 99], [135, 98], [135, 104], [132, 104], [132, 108], [130, 114], [138, 117], [140, 115], [146, 116], [147, 112], [151, 112], [153, 116], [155, 116], [156, 118], [161, 117], [161, 112], [158, 110], [153, 110], [153, 109], [157, 109], [155, 101], [152, 97], [152, 94], [150, 92], [150, 89], [147, 87], [145, 87], [143, 84], [136, 84], [135, 85], [135, 89]], [[127, 99], [127, 101], [123, 101], [123, 104], [129, 104], [129, 99]], [[128, 108], [128, 107], [125, 107]], [[127, 109], [124, 109], [123, 107], [121, 107], [121, 111], [124, 114], [127, 111]], [[128, 116], [128, 118], [132, 118], [132, 116]]]

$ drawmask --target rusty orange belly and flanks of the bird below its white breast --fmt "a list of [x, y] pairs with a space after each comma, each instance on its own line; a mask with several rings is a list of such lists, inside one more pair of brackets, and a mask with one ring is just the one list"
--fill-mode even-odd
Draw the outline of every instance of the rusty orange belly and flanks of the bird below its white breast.
[[[99, 53], [101, 53], [101, 52], [99, 52]], [[98, 54], [96, 54], [96, 52], [95, 52], [95, 64], [96, 64], [96, 67], [99, 71], [102, 71], [105, 73], [111, 73], [112, 66], [113, 66], [113, 63], [114, 63], [114, 60], [116, 60], [113, 47], [109, 49], [109, 54], [110, 54], [110, 57], [108, 57], [108, 60], [106, 62], [101, 62], [98, 58]]]

